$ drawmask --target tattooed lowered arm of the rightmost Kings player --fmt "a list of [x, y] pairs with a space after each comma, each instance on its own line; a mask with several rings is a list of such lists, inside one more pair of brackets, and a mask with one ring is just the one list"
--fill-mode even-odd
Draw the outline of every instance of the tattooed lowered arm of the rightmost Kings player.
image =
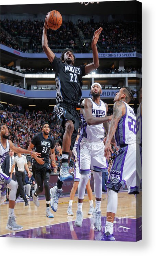
[[111, 143], [113, 136], [115, 135], [115, 132], [116, 132], [116, 129], [118, 126], [118, 122], [120, 121], [121, 117], [123, 116], [124, 111], [125, 111], [124, 103], [121, 101], [115, 102], [115, 104], [113, 106], [113, 117], [109, 124], [109, 130], [108, 130], [106, 144], [105, 144], [105, 157], [107, 159], [109, 159], [111, 156], [111, 153], [113, 153], [110, 143]]

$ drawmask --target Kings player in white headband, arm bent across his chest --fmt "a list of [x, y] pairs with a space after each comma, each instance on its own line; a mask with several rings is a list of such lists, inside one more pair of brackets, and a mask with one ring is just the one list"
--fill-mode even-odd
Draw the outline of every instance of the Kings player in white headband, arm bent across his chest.
[[83, 213], [82, 204], [88, 182], [90, 169], [93, 170], [95, 209], [94, 221], [96, 230], [101, 230], [101, 196], [102, 196], [102, 172], [106, 170], [107, 162], [104, 157], [104, 137], [105, 130], [108, 132], [109, 123], [112, 116], [106, 116], [108, 105], [100, 100], [101, 85], [93, 83], [91, 86], [92, 98], [82, 102], [84, 109], [81, 109], [81, 132], [78, 141], [78, 162], [81, 179], [78, 185], [78, 203], [75, 226], [82, 226]]

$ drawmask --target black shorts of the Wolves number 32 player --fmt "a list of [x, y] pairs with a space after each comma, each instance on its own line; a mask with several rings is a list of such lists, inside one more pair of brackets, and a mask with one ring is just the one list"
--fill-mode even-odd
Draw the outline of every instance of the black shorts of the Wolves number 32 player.
[[[38, 164], [35, 160], [33, 162], [32, 171], [33, 176], [36, 180], [40, 177], [43, 181], [47, 181], [50, 179], [50, 164], [45, 162], [44, 165]], [[38, 185], [38, 184], [37, 184]]]

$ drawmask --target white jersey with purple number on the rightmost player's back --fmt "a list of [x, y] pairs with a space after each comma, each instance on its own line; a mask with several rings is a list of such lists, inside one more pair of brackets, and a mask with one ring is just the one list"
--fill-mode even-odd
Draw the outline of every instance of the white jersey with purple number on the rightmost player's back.
[[115, 132], [116, 145], [136, 143], [136, 117], [133, 109], [124, 101], [126, 112], [118, 122]]

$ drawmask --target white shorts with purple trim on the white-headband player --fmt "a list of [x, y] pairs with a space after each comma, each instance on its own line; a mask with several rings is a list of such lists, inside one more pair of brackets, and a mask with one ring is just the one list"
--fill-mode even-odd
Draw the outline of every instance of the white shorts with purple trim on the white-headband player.
[[84, 137], [79, 137], [77, 150], [79, 172], [81, 174], [88, 174], [90, 170], [108, 171], [104, 148], [103, 140], [91, 141]]

